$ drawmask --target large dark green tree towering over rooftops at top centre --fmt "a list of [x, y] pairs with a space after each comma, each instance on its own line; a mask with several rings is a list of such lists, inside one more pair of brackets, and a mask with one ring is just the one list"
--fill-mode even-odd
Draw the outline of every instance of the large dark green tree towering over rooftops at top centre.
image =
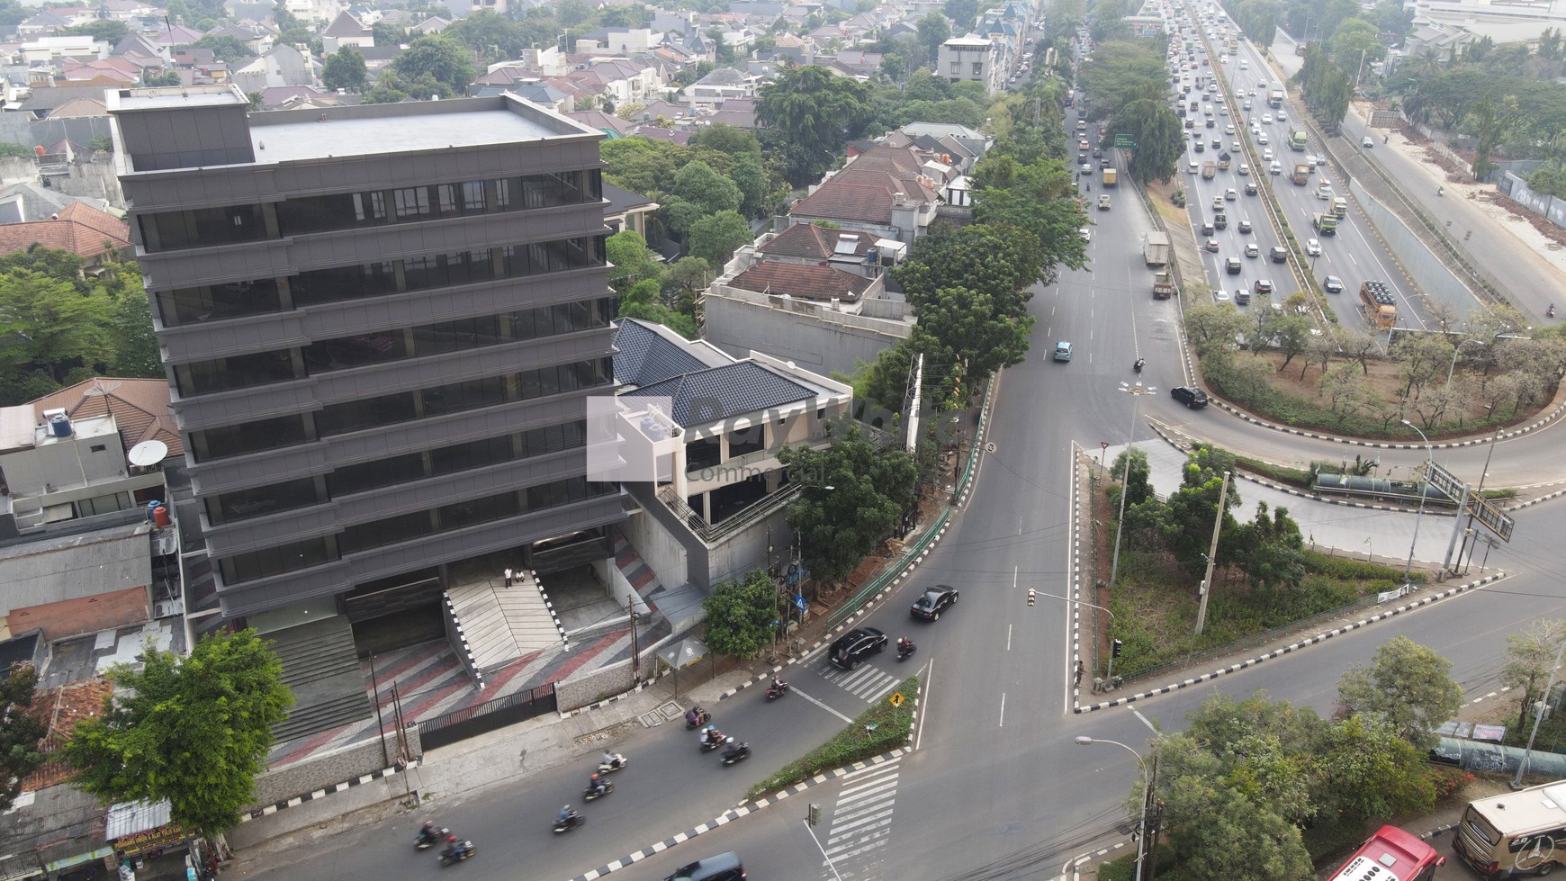
[[756, 119], [791, 183], [816, 180], [871, 120], [869, 86], [811, 64], [761, 88]]

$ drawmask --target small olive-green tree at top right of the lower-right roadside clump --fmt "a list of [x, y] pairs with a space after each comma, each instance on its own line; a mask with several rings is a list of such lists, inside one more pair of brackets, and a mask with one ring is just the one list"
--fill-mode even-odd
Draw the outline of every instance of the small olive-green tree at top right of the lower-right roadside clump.
[[1463, 687], [1452, 681], [1452, 662], [1408, 637], [1394, 637], [1370, 665], [1355, 665], [1337, 681], [1345, 715], [1384, 718], [1398, 737], [1420, 750], [1436, 745], [1434, 729], [1463, 706]]

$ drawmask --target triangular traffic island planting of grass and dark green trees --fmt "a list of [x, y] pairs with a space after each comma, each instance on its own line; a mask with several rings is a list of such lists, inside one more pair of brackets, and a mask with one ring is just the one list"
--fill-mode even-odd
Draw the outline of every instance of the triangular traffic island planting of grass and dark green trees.
[[[1198, 588], [1207, 568], [1223, 473], [1234, 471], [1239, 462], [1226, 451], [1198, 444], [1187, 458], [1181, 488], [1159, 499], [1148, 482], [1146, 454], [1132, 449], [1129, 455], [1129, 479], [1123, 485], [1124, 452], [1102, 476], [1113, 482], [1102, 493], [1107, 516], [1093, 515], [1106, 524], [1099, 529], [1096, 560], [1099, 577], [1104, 577], [1113, 556], [1113, 518], [1126, 493], [1120, 568], [1107, 602], [1101, 599], [1113, 612], [1109, 638], [1123, 643], [1115, 660], [1117, 676], [1134, 676], [1342, 609], [1395, 590], [1402, 582], [1402, 571], [1395, 568], [1308, 548], [1287, 509], [1257, 505], [1250, 521], [1237, 520], [1231, 512], [1240, 504], [1242, 487], [1231, 479], [1207, 618], [1198, 635]], [[1419, 581], [1417, 574], [1414, 577]]]

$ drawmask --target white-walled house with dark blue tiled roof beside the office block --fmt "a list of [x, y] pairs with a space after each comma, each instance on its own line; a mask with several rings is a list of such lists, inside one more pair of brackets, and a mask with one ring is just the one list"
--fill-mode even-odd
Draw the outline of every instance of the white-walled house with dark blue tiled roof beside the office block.
[[620, 433], [666, 451], [648, 474], [658, 479], [623, 482], [640, 505], [620, 527], [626, 538], [666, 585], [705, 588], [772, 568], [799, 493], [778, 452], [830, 444], [828, 426], [852, 413], [852, 388], [636, 319], [619, 322], [615, 347]]

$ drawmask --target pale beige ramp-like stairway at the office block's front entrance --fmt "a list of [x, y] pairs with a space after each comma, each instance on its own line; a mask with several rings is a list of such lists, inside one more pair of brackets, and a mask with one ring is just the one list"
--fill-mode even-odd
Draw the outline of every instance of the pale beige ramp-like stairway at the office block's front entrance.
[[[565, 640], [561, 620], [531, 573], [504, 581], [456, 585], [446, 590], [471, 665], [489, 673]], [[460, 654], [460, 646], [459, 646]]]

